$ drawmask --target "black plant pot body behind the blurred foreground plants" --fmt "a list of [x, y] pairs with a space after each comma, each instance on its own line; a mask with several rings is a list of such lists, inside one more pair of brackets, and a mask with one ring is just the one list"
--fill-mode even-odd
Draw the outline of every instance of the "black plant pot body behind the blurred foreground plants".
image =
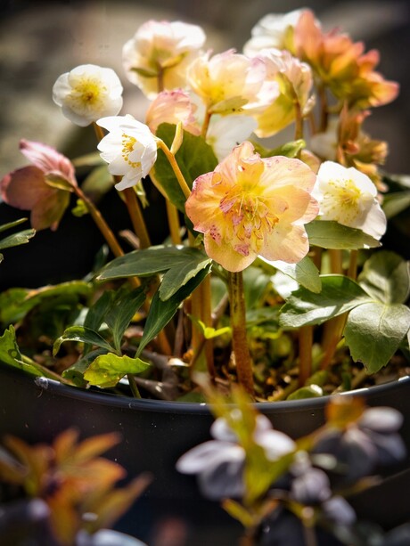
[[[404, 417], [401, 434], [409, 456], [390, 468], [382, 485], [360, 493], [351, 503], [359, 517], [389, 528], [410, 519], [403, 502], [410, 487], [410, 377], [354, 395], [371, 406], [396, 408]], [[328, 397], [279, 403], [260, 403], [275, 428], [293, 438], [324, 423]], [[195, 479], [179, 474], [176, 460], [194, 445], [209, 439], [212, 415], [206, 404], [135, 400], [126, 396], [66, 387], [49, 379], [35, 379], [0, 363], [0, 437], [20, 436], [29, 443], [50, 442], [62, 430], [78, 428], [81, 437], [119, 431], [123, 441], [107, 453], [127, 469], [128, 477], [143, 471], [152, 485], [123, 517], [117, 528], [162, 546], [163, 533], [180, 534], [178, 546], [233, 546], [242, 527], [216, 502], [201, 498]]]

